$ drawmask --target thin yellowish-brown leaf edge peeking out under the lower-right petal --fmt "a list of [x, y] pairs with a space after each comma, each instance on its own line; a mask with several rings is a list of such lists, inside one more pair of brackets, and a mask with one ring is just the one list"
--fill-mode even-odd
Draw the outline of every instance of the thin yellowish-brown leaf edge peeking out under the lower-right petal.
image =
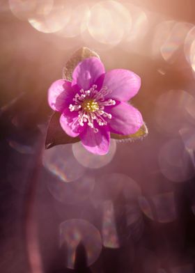
[[112, 139], [117, 139], [118, 141], [134, 141], [137, 139], [142, 139], [143, 137], [146, 137], [148, 134], [148, 128], [146, 127], [146, 124], [143, 123], [143, 125], [139, 128], [139, 130], [134, 134], [128, 134], [124, 136], [123, 134], [111, 134]]

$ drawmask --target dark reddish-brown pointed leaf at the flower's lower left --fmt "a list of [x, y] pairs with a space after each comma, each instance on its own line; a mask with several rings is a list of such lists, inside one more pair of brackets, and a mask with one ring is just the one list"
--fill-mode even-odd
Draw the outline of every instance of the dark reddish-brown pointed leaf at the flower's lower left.
[[75, 143], [80, 141], [78, 137], [69, 137], [68, 134], [65, 134], [59, 123], [60, 116], [61, 114], [59, 112], [54, 112], [52, 118], [49, 121], [47, 136], [45, 140], [46, 149], [60, 144]]

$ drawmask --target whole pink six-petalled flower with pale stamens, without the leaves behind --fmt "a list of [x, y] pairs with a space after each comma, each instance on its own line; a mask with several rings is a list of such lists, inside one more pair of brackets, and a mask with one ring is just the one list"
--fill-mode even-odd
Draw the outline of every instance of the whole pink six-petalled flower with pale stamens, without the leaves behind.
[[79, 137], [91, 153], [104, 155], [109, 150], [110, 132], [134, 134], [143, 125], [140, 112], [127, 102], [140, 85], [134, 72], [105, 72], [100, 59], [91, 57], [77, 65], [72, 82], [54, 81], [48, 102], [61, 112], [60, 124], [66, 134]]

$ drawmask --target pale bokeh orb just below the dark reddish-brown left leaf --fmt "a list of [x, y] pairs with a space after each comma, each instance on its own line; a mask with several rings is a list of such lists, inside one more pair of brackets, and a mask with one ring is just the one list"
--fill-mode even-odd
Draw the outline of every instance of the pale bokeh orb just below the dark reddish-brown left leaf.
[[85, 173], [72, 154], [72, 145], [54, 146], [42, 153], [42, 163], [45, 168], [63, 182], [81, 178]]

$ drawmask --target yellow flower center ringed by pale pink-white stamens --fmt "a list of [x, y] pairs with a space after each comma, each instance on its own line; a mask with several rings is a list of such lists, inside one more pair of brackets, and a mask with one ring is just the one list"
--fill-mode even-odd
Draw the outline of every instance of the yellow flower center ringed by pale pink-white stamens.
[[104, 107], [116, 104], [115, 100], [104, 98], [109, 93], [111, 91], [106, 86], [98, 91], [95, 84], [89, 90], [81, 89], [73, 98], [74, 104], [69, 105], [70, 111], [78, 111], [78, 118], [74, 122], [75, 126], [78, 123], [80, 126], [84, 126], [86, 123], [97, 133], [97, 124], [99, 126], [107, 125], [107, 119], [111, 119], [111, 114], [104, 111]]

